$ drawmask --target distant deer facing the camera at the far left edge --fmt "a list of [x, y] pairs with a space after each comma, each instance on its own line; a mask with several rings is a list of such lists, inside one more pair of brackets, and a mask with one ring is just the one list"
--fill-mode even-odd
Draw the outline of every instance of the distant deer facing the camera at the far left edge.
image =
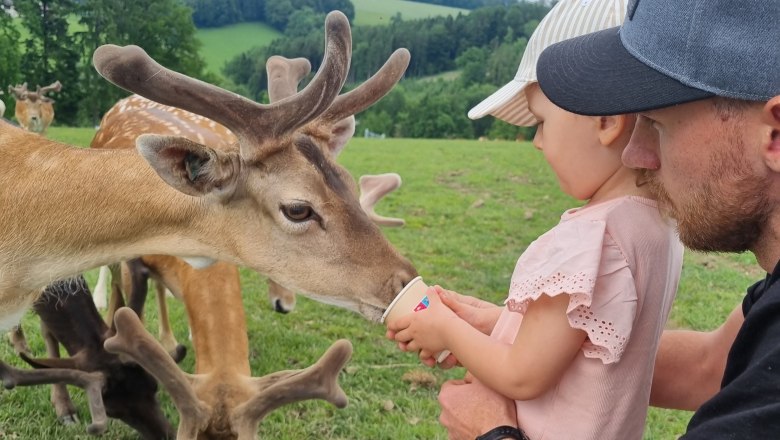
[[60, 90], [62, 90], [62, 84], [59, 81], [46, 87], [37, 86], [35, 92], [27, 90], [27, 83], [16, 87], [8, 86], [8, 91], [16, 99], [14, 116], [19, 125], [33, 133], [46, 133], [46, 129], [54, 120], [54, 100], [46, 94]]

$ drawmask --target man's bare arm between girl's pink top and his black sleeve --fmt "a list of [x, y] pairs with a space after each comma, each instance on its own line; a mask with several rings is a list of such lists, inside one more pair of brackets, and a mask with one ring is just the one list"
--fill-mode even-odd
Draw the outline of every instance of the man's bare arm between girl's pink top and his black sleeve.
[[743, 321], [740, 305], [711, 332], [664, 331], [655, 360], [650, 404], [695, 411], [715, 395]]

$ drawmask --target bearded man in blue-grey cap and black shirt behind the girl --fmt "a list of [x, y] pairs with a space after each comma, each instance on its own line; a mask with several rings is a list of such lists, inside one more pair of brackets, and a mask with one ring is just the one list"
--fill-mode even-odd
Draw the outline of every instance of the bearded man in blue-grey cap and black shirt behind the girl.
[[750, 250], [769, 273], [717, 331], [664, 335], [652, 401], [697, 409], [685, 439], [780, 437], [779, 20], [777, 0], [634, 0], [621, 28], [537, 65], [566, 110], [639, 113], [623, 162], [648, 170], [683, 243]]

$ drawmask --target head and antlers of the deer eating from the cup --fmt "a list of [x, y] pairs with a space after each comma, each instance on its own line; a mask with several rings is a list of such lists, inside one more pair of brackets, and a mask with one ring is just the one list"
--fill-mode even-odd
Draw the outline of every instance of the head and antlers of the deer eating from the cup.
[[233, 262], [378, 320], [416, 271], [362, 211], [354, 180], [331, 151], [340, 143], [334, 127], [387, 93], [409, 54], [397, 50], [374, 78], [338, 96], [350, 54], [349, 23], [332, 12], [320, 70], [300, 92], [267, 105], [168, 70], [135, 46], [102, 46], [93, 60], [118, 86], [236, 135], [228, 149], [151, 134], [136, 141], [168, 185], [235, 214], [229, 224], [213, 225], [241, 237], [232, 243]]

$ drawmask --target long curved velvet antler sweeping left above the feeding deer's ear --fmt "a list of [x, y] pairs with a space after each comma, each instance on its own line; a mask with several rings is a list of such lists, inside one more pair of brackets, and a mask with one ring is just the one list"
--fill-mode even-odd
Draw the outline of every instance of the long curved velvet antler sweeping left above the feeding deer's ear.
[[166, 69], [138, 46], [101, 46], [93, 62], [112, 83], [217, 121], [239, 139], [278, 137], [322, 114], [344, 85], [352, 54], [349, 21], [343, 13], [333, 11], [325, 28], [325, 57], [317, 75], [295, 96], [269, 105]]

